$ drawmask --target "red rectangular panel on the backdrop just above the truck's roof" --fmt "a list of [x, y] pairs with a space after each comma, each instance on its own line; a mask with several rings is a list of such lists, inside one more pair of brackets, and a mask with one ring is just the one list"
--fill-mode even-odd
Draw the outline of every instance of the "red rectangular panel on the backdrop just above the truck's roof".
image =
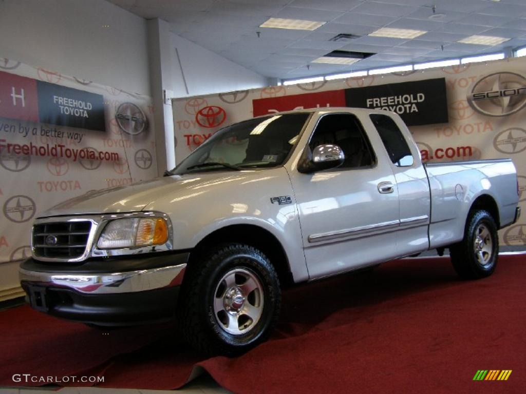
[[345, 106], [345, 90], [343, 89], [252, 100], [254, 116], [295, 109]]

